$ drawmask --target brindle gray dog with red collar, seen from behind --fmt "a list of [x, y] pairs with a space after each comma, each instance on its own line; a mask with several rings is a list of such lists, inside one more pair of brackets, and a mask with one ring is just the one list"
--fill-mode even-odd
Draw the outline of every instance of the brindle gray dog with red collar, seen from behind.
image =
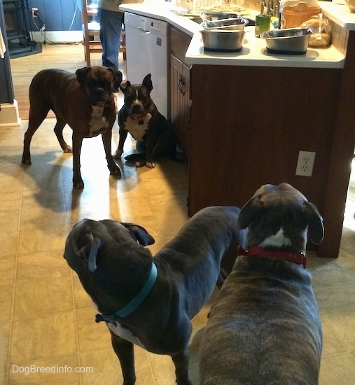
[[265, 185], [242, 208], [246, 251], [216, 296], [200, 344], [200, 384], [316, 385], [321, 319], [305, 269], [307, 230], [323, 239], [316, 207], [292, 186]]

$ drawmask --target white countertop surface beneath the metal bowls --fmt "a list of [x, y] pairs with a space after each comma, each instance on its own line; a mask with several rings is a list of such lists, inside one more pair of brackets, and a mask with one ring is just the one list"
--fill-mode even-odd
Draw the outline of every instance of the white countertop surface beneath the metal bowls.
[[[330, 1], [319, 1], [324, 15], [342, 27], [355, 30], [355, 14], [347, 7]], [[246, 38], [240, 52], [204, 52], [200, 25], [186, 16], [181, 16], [172, 3], [129, 4], [120, 6], [121, 10], [137, 13], [149, 18], [165, 20], [189, 36], [193, 36], [186, 52], [187, 64], [209, 64], [227, 66], [277, 66], [298, 68], [342, 68], [344, 55], [333, 45], [329, 48], [308, 48], [306, 55], [275, 55], [267, 52], [265, 41], [254, 36], [254, 27], [246, 27]]]

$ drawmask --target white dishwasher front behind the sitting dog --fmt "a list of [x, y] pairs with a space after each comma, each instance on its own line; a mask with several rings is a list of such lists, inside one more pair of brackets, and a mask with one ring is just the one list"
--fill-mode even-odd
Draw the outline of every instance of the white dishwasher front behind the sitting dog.
[[125, 12], [127, 80], [139, 84], [151, 73], [153, 102], [169, 118], [168, 23]]

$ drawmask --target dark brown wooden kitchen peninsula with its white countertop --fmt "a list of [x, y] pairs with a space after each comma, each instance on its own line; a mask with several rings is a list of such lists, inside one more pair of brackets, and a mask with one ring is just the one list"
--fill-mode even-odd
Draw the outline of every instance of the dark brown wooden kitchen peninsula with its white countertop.
[[[333, 44], [297, 57], [268, 54], [252, 29], [241, 52], [206, 54], [198, 25], [183, 18], [181, 29], [193, 36], [185, 57], [191, 100], [188, 214], [214, 204], [242, 207], [264, 183], [287, 182], [324, 218], [323, 242], [309, 248], [336, 258], [355, 143], [355, 15], [344, 6], [321, 4]], [[146, 12], [144, 4], [121, 8]], [[179, 28], [181, 16], [172, 10], [156, 15], [148, 8], [151, 17]], [[316, 153], [312, 176], [295, 175], [300, 151]]]

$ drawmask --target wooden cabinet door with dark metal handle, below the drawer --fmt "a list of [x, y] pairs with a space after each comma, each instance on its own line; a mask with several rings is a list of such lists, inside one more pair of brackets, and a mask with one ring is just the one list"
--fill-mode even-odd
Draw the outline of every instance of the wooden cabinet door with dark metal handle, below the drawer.
[[177, 141], [186, 158], [190, 151], [190, 69], [170, 55], [171, 119]]

